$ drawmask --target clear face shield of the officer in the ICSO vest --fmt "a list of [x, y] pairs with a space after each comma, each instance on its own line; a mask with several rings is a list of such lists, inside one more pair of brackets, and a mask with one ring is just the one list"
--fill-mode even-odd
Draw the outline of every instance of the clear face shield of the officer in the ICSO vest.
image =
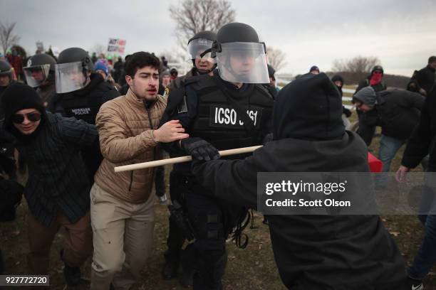
[[222, 43], [217, 52], [219, 75], [227, 82], [268, 84], [263, 43]]

